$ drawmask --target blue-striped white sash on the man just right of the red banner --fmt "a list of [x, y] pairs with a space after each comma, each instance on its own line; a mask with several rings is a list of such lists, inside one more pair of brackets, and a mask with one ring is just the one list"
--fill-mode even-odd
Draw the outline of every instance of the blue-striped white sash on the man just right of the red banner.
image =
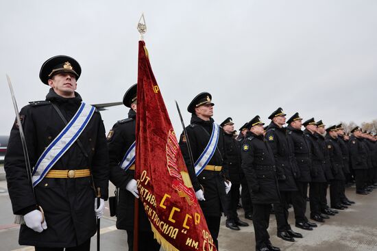
[[204, 168], [207, 166], [208, 162], [212, 158], [213, 154], [215, 153], [215, 150], [217, 148], [217, 142], [219, 142], [219, 132], [219, 124], [213, 123], [210, 141], [208, 142], [202, 155], [200, 155], [199, 159], [197, 159], [197, 161], [194, 164], [196, 176], [198, 176], [204, 170]]

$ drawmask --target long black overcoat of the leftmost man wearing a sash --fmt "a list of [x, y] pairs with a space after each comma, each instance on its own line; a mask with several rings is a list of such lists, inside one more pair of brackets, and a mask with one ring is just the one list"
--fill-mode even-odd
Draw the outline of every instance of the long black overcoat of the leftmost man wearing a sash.
[[[49, 102], [46, 102], [49, 101]], [[46, 101], [23, 107], [20, 111], [23, 131], [27, 142], [30, 165], [35, 166], [43, 151], [65, 127], [53, 108], [56, 104], [67, 121], [75, 115], [82, 98], [62, 98], [53, 90]], [[101, 188], [101, 197], [108, 198], [108, 148], [104, 124], [99, 112], [95, 112], [80, 135], [86, 152], [73, 144], [51, 170], [80, 170], [90, 168], [96, 187]], [[77, 179], [45, 178], [35, 187], [36, 198], [25, 171], [25, 158], [21, 145], [19, 127], [14, 124], [10, 132], [5, 172], [14, 214], [25, 215], [38, 204], [45, 212], [47, 229], [42, 233], [22, 225], [19, 243], [27, 246], [50, 248], [77, 246], [96, 232], [94, 211], [95, 192], [90, 177]]]

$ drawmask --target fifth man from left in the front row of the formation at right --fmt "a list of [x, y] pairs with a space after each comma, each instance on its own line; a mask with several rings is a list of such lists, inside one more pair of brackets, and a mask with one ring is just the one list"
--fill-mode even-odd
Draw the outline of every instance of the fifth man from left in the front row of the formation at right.
[[334, 179], [334, 176], [331, 172], [331, 163], [330, 163], [330, 154], [328, 152], [328, 148], [326, 147], [325, 142], [325, 135], [326, 135], [326, 129], [325, 124], [322, 122], [322, 120], [319, 120], [317, 122], [317, 132], [315, 133], [315, 136], [317, 137], [317, 142], [319, 143], [319, 146], [324, 153], [324, 164], [322, 165], [322, 168], [324, 170], [326, 182], [319, 184], [320, 185], [320, 211], [321, 213], [319, 216], [321, 216], [323, 219], [330, 219], [329, 215], [331, 215], [327, 204], [327, 187], [328, 184]]

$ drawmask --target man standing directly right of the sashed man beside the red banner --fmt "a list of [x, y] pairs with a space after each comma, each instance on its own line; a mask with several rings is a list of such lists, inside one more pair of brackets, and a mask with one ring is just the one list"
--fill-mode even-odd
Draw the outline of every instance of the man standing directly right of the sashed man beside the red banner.
[[239, 219], [237, 215], [237, 205], [239, 204], [239, 188], [241, 185], [241, 156], [239, 151], [239, 142], [233, 137], [234, 123], [232, 118], [224, 120], [220, 127], [224, 131], [224, 144], [228, 156], [228, 172], [229, 178], [232, 182], [230, 188], [230, 203], [228, 208], [228, 219], [226, 220], [226, 227], [232, 230], [240, 230], [239, 226], [249, 226], [246, 222]]

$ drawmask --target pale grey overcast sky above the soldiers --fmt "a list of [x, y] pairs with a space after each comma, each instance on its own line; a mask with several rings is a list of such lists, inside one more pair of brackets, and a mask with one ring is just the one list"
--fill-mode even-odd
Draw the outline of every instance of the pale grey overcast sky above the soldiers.
[[[177, 100], [210, 92], [215, 121], [236, 129], [278, 107], [325, 124], [377, 118], [377, 1], [0, 1], [0, 135], [14, 110], [44, 100], [40, 66], [69, 55], [82, 66], [77, 82], [86, 103], [121, 101], [137, 79], [138, 31], [145, 42], [177, 133]], [[102, 111], [106, 132], [127, 117], [123, 106]]]

